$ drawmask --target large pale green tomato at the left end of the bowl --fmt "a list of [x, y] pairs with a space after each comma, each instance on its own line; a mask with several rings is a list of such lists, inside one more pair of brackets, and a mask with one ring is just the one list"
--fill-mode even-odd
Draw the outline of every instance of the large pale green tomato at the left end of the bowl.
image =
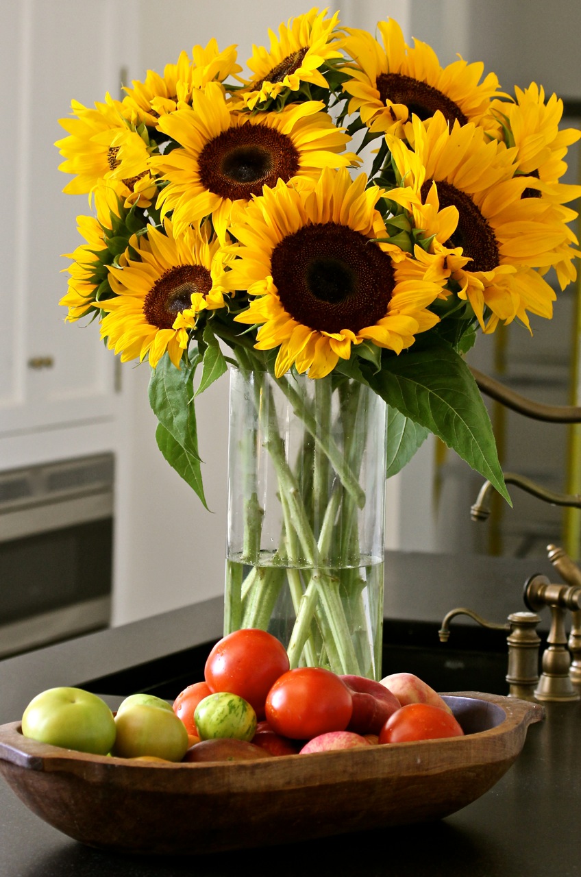
[[115, 741], [115, 721], [97, 695], [62, 686], [32, 698], [22, 717], [22, 733], [40, 743], [106, 755]]

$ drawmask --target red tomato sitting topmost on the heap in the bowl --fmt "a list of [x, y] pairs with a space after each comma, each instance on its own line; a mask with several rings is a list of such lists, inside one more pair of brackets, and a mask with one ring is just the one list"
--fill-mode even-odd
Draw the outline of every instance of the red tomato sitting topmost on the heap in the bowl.
[[269, 689], [289, 669], [289, 656], [280, 640], [267, 631], [247, 628], [229, 633], [214, 645], [205, 662], [204, 677], [212, 692], [240, 695], [264, 717]]

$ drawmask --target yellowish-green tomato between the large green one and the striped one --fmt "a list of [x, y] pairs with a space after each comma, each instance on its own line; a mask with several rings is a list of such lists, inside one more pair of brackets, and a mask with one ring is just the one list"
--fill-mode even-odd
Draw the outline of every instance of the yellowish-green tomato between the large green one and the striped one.
[[118, 711], [115, 726], [113, 755], [123, 759], [152, 755], [167, 761], [181, 761], [190, 745], [182, 719], [167, 705], [130, 703]]

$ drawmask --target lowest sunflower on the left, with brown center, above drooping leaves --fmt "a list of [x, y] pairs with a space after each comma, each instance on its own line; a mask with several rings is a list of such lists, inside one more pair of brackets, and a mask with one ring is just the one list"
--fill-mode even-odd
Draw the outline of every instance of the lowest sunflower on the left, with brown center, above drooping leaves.
[[224, 271], [219, 242], [208, 224], [176, 237], [166, 219], [164, 232], [151, 228], [131, 246], [140, 260], [127, 257], [124, 267], [110, 267], [115, 297], [100, 303], [106, 311], [101, 338], [121, 353], [122, 362], [147, 355], [155, 367], [167, 350], [179, 368], [197, 313], [224, 307], [217, 282]]

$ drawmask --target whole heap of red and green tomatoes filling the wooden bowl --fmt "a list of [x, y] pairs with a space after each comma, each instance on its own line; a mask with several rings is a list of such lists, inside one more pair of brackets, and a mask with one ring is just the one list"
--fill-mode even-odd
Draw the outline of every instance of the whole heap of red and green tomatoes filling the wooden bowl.
[[[380, 683], [323, 667], [289, 670], [288, 663], [283, 645], [266, 631], [235, 631], [213, 646], [204, 681], [174, 702], [136, 693], [113, 718], [97, 695], [54, 688], [26, 708], [23, 733], [95, 754], [171, 762], [273, 758], [463, 733], [448, 704], [417, 676], [391, 674]], [[258, 722], [257, 710], [268, 721]]]

